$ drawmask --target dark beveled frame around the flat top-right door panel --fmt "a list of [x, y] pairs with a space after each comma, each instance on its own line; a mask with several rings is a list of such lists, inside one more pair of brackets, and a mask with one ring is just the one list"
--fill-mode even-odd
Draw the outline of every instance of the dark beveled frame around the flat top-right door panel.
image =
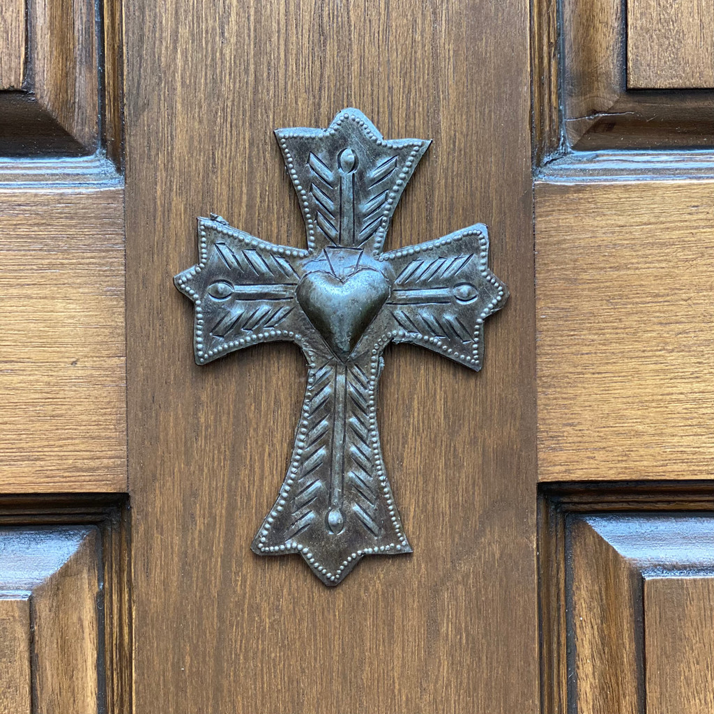
[[[642, 6], [650, 2], [635, 1]], [[658, 4], [678, 11], [689, 2]], [[569, 149], [645, 150], [711, 145], [712, 91], [628, 91], [626, 10], [620, 0], [535, 0], [536, 131], [540, 152], [550, 152], [546, 156], [558, 163], [567, 163]], [[709, 31], [714, 32], [711, 28]], [[643, 28], [642, 34], [649, 47], [648, 27]], [[710, 51], [707, 47], [702, 51]], [[561, 48], [554, 61], [555, 51]], [[689, 51], [694, 53], [697, 49]]]

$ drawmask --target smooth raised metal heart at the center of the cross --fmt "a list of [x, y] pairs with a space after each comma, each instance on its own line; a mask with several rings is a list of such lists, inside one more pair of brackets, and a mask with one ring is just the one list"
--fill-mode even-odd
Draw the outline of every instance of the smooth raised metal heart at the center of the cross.
[[298, 303], [331, 350], [346, 360], [389, 297], [382, 273], [363, 269], [340, 280], [332, 273], [308, 273], [298, 284]]

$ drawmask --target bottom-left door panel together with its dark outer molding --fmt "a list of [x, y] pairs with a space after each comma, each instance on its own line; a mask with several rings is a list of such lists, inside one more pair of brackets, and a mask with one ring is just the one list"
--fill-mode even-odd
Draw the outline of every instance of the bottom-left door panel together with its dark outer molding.
[[[131, 711], [128, 505], [123, 494], [0, 496], [0, 605], [29, 608], [24, 634], [14, 630], [25, 664], [7, 670], [31, 688], [27, 714]], [[0, 683], [16, 650], [2, 616]]]

